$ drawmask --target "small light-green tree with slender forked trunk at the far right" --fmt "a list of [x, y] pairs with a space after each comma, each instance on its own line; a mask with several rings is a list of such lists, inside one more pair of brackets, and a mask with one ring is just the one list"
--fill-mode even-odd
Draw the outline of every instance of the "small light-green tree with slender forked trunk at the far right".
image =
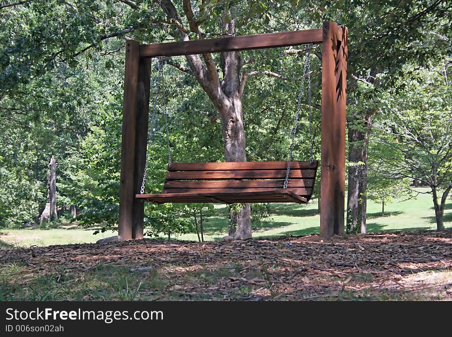
[[381, 146], [391, 150], [391, 156], [382, 155], [377, 162], [379, 173], [390, 179], [418, 179], [429, 186], [438, 230], [444, 230], [444, 207], [452, 189], [450, 65], [448, 60], [404, 78], [404, 89], [388, 93], [391, 104], [375, 125], [382, 131]]

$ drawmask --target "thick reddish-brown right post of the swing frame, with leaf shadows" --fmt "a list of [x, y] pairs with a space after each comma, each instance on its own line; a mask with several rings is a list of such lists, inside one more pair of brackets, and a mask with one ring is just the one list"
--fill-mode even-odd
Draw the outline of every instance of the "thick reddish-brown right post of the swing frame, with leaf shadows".
[[320, 234], [344, 233], [347, 28], [323, 25]]

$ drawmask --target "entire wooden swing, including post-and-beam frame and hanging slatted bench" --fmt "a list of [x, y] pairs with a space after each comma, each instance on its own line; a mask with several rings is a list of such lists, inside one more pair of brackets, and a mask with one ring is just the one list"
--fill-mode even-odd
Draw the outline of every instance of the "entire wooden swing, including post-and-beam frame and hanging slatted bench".
[[[142, 44], [127, 40], [119, 186], [119, 235], [140, 239], [144, 232], [144, 203], [163, 202], [307, 202], [317, 162], [174, 163], [168, 168], [160, 194], [141, 192], [149, 117], [150, 58], [190, 54], [322, 45], [320, 234], [344, 231], [345, 107], [347, 28], [324, 22], [320, 29], [196, 41]], [[284, 180], [290, 170], [290, 175]], [[312, 174], [312, 176], [311, 176]], [[281, 186], [282, 185], [282, 186]], [[140, 193], [141, 192], [141, 193]], [[137, 193], [140, 193], [137, 195]]]

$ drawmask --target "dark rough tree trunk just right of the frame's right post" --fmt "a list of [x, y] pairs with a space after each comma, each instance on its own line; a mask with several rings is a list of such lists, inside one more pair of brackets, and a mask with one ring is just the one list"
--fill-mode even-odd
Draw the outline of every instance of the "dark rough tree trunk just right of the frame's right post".
[[[367, 123], [366, 123], [367, 124]], [[348, 195], [347, 225], [348, 234], [366, 232], [366, 188], [367, 188], [367, 128], [348, 130]]]

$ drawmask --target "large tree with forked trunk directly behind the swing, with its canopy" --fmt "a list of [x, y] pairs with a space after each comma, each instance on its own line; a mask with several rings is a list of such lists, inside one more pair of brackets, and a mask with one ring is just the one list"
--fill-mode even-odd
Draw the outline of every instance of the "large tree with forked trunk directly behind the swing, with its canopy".
[[[224, 3], [217, 0], [205, 1], [194, 7], [188, 0], [177, 3], [171, 0], [89, 3], [53, 0], [5, 5], [2, 7], [5, 30], [0, 38], [11, 47], [7, 52], [0, 53], [2, 69], [8, 70], [0, 77], [4, 84], [2, 93], [10, 97], [20, 96], [17, 88], [27, 85], [30, 77], [41, 76], [60, 62], [75, 66], [78, 56], [92, 49], [103, 51], [110, 39], [128, 35], [145, 42], [163, 41], [168, 38], [168, 33], [172, 38], [183, 40], [254, 33], [256, 29], [262, 30], [258, 23], [273, 26], [272, 12], [280, 8], [283, 7], [273, 1]], [[30, 34], [23, 32], [23, 29], [18, 30], [17, 22], [25, 24]], [[14, 36], [12, 43], [9, 41], [11, 36]], [[38, 36], [40, 43], [36, 48], [33, 38]], [[117, 44], [116, 51], [122, 47], [123, 43]], [[12, 54], [26, 55], [26, 60], [15, 59], [10, 56]], [[250, 77], [261, 74], [273, 76], [275, 73], [243, 71], [243, 66], [251, 62], [242, 61], [236, 52], [222, 53], [219, 57], [211, 54], [189, 55], [186, 61], [187, 65], [171, 60], [168, 62], [194, 76], [218, 111], [224, 159], [246, 161], [242, 108], [245, 84]], [[250, 206], [242, 205], [234, 216], [237, 239], [247, 239], [251, 236]]]

